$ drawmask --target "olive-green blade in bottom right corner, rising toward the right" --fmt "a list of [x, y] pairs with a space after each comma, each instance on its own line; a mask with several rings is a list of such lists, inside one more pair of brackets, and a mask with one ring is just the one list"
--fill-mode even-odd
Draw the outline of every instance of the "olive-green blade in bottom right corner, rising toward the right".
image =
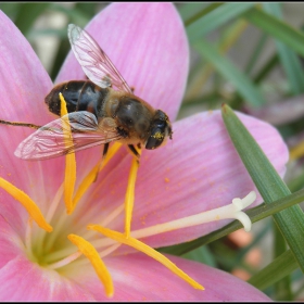
[[287, 250], [283, 254], [274, 259], [258, 274], [252, 276], [248, 282], [257, 289], [264, 290], [269, 286], [283, 279], [297, 268], [297, 263], [291, 250]]

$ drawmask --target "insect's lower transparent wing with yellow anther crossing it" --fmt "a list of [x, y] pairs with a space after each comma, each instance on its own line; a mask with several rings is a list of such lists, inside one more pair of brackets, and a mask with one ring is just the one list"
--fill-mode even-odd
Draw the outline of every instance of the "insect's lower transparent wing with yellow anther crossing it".
[[87, 111], [69, 113], [27, 137], [15, 155], [29, 161], [47, 160], [118, 140], [122, 136], [113, 124], [114, 121], [111, 126], [98, 124], [96, 116]]

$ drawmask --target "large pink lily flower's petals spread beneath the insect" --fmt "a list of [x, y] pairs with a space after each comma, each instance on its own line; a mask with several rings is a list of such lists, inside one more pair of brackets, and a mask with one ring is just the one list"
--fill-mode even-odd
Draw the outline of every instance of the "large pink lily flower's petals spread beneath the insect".
[[[10, 20], [0, 13], [1, 118], [45, 125], [55, 117], [43, 104], [52, 83], [33, 49]], [[182, 23], [169, 3], [114, 3], [86, 27], [109, 54], [135, 93], [174, 122], [188, 74], [189, 51]], [[71, 53], [58, 81], [84, 79]], [[282, 176], [287, 147], [270, 125], [239, 114]], [[201, 224], [163, 233], [142, 233], [174, 219], [227, 205], [255, 189], [235, 151], [220, 113], [199, 113], [173, 124], [174, 140], [155, 151], [143, 151], [136, 185], [131, 231], [152, 248], [201, 237], [227, 220]], [[0, 177], [27, 193], [53, 231], [28, 221], [28, 214], [0, 189], [0, 300], [102, 301], [104, 289], [87, 259], [69, 257], [76, 233], [90, 240], [112, 275], [114, 301], [267, 301], [264, 293], [229, 274], [199, 263], [169, 256], [205, 290], [195, 290], [163, 265], [134, 249], [117, 248], [110, 239], [87, 231], [101, 224], [124, 231], [124, 203], [130, 155], [121, 149], [100, 173], [98, 181], [66, 215], [61, 183], [64, 157], [25, 162], [13, 154], [33, 130], [0, 125]], [[80, 151], [77, 182], [98, 162], [100, 148]], [[257, 198], [256, 203], [262, 201]], [[114, 213], [116, 215], [114, 215]], [[153, 230], [153, 229], [152, 229]], [[155, 228], [156, 230], [156, 228]], [[59, 263], [64, 262], [61, 266]], [[67, 261], [67, 263], [66, 263]]]

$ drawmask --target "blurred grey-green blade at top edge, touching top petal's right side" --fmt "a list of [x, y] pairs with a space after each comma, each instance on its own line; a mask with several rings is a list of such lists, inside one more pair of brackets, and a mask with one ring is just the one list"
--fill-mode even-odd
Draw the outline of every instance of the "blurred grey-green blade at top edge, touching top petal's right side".
[[211, 30], [218, 28], [227, 22], [242, 15], [252, 9], [255, 3], [225, 3], [198, 21], [191, 23], [186, 30], [190, 43], [200, 39]]

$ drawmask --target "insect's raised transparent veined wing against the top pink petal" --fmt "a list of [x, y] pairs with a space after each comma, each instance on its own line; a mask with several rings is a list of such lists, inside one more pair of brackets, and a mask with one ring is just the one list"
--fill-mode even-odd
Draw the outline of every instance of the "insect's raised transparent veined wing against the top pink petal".
[[75, 24], [67, 27], [72, 50], [88, 78], [101, 88], [116, 87], [131, 93], [131, 89], [96, 40]]

